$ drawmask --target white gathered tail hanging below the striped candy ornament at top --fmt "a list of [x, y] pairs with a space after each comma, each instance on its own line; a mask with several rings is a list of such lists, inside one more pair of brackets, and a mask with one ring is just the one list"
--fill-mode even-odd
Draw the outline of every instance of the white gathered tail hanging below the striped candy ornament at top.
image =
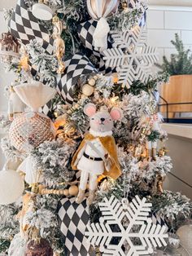
[[98, 20], [97, 27], [94, 31], [94, 48], [98, 51], [107, 49], [107, 36], [110, 31], [109, 24], [105, 18]]

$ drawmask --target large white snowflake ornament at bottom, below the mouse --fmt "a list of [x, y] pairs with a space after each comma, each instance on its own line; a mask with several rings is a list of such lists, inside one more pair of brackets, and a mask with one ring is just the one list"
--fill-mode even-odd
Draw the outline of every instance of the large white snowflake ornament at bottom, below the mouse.
[[152, 205], [146, 203], [146, 198], [140, 200], [136, 196], [128, 205], [111, 196], [109, 200], [104, 198], [98, 206], [103, 217], [99, 223], [89, 224], [85, 236], [91, 245], [99, 246], [103, 256], [149, 255], [157, 246], [167, 245], [166, 227], [153, 224], [147, 217]]

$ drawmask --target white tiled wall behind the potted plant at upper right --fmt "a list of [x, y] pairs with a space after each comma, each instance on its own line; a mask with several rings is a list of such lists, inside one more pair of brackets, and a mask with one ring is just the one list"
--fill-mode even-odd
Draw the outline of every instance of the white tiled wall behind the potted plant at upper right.
[[[192, 2], [192, 1], [191, 1]], [[175, 33], [192, 49], [192, 7], [150, 6], [147, 14], [148, 42], [158, 47], [159, 60], [175, 52]]]

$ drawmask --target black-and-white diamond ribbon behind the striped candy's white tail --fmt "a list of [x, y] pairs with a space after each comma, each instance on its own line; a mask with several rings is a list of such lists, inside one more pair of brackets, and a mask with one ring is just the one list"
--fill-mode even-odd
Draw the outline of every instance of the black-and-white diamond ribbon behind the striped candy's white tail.
[[[107, 68], [105, 66], [105, 62], [103, 61], [103, 53], [100, 51], [94, 50], [94, 30], [97, 27], [98, 21], [96, 20], [88, 20], [85, 21], [84, 23], [81, 23], [78, 25], [77, 31], [79, 34], [79, 38], [85, 46], [86, 51], [85, 54], [90, 57], [91, 55], [94, 55], [95, 59], [97, 60], [97, 64], [95, 64], [95, 68], [98, 69], [99, 72], [101, 73], [111, 73], [112, 68]], [[108, 46], [107, 48], [111, 48], [111, 42], [108, 40]]]

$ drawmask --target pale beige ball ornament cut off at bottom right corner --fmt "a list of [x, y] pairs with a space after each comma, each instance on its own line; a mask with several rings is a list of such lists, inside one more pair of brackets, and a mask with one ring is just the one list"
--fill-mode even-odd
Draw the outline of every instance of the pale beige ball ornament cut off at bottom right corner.
[[181, 247], [185, 248], [189, 254], [192, 253], [192, 224], [179, 227], [176, 233], [180, 238]]

